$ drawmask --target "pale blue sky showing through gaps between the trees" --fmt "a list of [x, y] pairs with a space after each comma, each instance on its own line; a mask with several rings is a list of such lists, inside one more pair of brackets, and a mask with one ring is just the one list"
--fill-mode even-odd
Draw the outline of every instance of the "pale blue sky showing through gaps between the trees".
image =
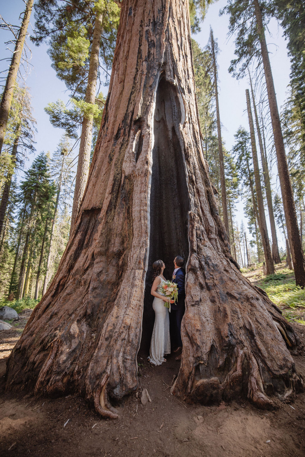
[[[234, 58], [234, 42], [231, 38], [228, 40], [228, 16], [220, 16], [219, 10], [226, 4], [226, 0], [219, 0], [209, 7], [207, 16], [201, 24], [201, 32], [193, 36], [199, 43], [200, 47], [205, 47], [209, 40], [210, 26], [214, 32], [214, 38], [218, 41], [219, 55], [219, 111], [222, 123], [222, 137], [225, 141], [225, 147], [230, 150], [234, 144], [234, 134], [242, 125], [248, 130], [248, 119], [246, 115], [246, 95], [245, 90], [248, 88], [246, 80], [236, 80], [229, 72], [230, 60]], [[2, 2], [1, 15], [5, 21], [12, 24], [19, 24], [19, 15], [24, 11], [25, 5], [23, 0], [11, 0]], [[34, 25], [34, 15], [31, 16], [31, 24]], [[278, 106], [283, 105], [286, 99], [287, 85], [289, 84], [290, 63], [287, 56], [286, 43], [282, 37], [282, 31], [278, 29], [276, 21], [269, 24], [270, 34], [266, 33], [270, 61], [273, 70], [273, 79], [277, 93]], [[29, 32], [32, 33], [31, 27]], [[4, 42], [11, 38], [11, 35], [0, 30], [1, 37], [1, 56], [11, 58], [11, 51], [5, 50]], [[32, 69], [27, 75], [26, 84], [32, 95], [33, 115], [37, 120], [37, 134], [35, 136], [36, 149], [38, 154], [41, 151], [53, 151], [57, 148], [59, 140], [64, 133], [63, 130], [54, 128], [49, 122], [48, 115], [44, 112], [44, 107], [51, 101], [62, 99], [64, 102], [69, 101], [69, 93], [63, 82], [56, 78], [54, 69], [51, 68], [51, 61], [47, 54], [47, 46], [42, 44], [36, 47], [27, 40], [31, 51]], [[12, 48], [11, 46], [8, 46]], [[0, 69], [7, 69], [8, 62], [0, 62]], [[22, 72], [21, 69], [21, 73]], [[107, 95], [107, 87], [102, 87], [102, 92]], [[26, 169], [32, 163], [34, 155], [29, 156], [26, 162]], [[274, 176], [275, 179], [275, 176]], [[274, 181], [275, 182], [275, 181]], [[242, 203], [237, 204], [236, 218], [241, 222], [243, 218]], [[268, 215], [267, 215], [268, 216]], [[267, 217], [268, 220], [268, 217]], [[283, 243], [282, 243], [283, 244]]]

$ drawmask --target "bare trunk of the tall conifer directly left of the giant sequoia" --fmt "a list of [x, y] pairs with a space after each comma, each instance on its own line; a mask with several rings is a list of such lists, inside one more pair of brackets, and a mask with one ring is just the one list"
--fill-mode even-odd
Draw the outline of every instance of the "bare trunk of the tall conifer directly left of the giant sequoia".
[[[102, 35], [102, 13], [96, 12], [96, 19], [94, 22], [92, 48], [90, 54], [89, 74], [86, 88], [86, 103], [95, 103], [96, 98], [96, 79], [99, 64], [99, 54], [101, 46]], [[93, 116], [84, 116], [81, 126], [80, 136], [80, 151], [78, 154], [77, 170], [75, 177], [75, 190], [73, 197], [73, 207], [71, 215], [70, 235], [72, 233], [75, 220], [80, 208], [80, 202], [83, 198], [86, 182], [88, 179], [89, 165], [90, 165], [90, 152], [92, 140]], [[44, 285], [43, 285], [44, 289]], [[43, 292], [44, 293], [44, 292]]]

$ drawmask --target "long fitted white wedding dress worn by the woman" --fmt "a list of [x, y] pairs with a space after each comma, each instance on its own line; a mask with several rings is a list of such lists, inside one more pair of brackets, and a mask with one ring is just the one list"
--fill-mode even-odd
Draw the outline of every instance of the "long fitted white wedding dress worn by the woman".
[[[157, 287], [157, 292], [160, 292], [164, 279], [161, 278], [161, 282]], [[153, 334], [150, 343], [150, 356], [148, 357], [150, 363], [154, 365], [161, 365], [165, 362], [165, 354], [171, 353], [171, 340], [170, 340], [170, 318], [168, 314], [168, 308], [164, 306], [164, 300], [162, 298], [154, 298], [153, 309], [155, 311], [155, 324]]]

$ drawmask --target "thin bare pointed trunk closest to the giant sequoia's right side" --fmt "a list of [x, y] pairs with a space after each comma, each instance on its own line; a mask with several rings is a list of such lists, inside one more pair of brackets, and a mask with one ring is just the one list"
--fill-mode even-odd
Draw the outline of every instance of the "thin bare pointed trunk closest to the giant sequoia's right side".
[[212, 57], [213, 57], [213, 69], [214, 69], [214, 87], [215, 87], [215, 102], [216, 102], [216, 119], [217, 119], [217, 136], [218, 136], [218, 151], [219, 151], [219, 172], [220, 172], [220, 184], [221, 184], [221, 203], [222, 203], [222, 217], [225, 224], [226, 232], [229, 236], [229, 218], [228, 218], [228, 206], [227, 206], [227, 193], [225, 189], [225, 165], [224, 165], [224, 153], [222, 149], [221, 139], [221, 128], [220, 128], [220, 116], [219, 116], [219, 103], [218, 103], [218, 87], [217, 87], [217, 70], [216, 70], [216, 59], [214, 50], [214, 37], [211, 30], [211, 46], [212, 46]]

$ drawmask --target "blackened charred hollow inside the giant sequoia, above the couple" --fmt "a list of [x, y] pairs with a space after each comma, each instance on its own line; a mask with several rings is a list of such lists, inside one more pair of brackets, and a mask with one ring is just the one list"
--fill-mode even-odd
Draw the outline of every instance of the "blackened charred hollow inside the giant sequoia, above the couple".
[[146, 274], [141, 350], [150, 347], [155, 312], [150, 295], [152, 264], [163, 260], [164, 276], [171, 279], [173, 260], [188, 257], [187, 213], [189, 197], [179, 124], [182, 120], [177, 89], [161, 77], [156, 92], [154, 147], [150, 188], [150, 243]]

